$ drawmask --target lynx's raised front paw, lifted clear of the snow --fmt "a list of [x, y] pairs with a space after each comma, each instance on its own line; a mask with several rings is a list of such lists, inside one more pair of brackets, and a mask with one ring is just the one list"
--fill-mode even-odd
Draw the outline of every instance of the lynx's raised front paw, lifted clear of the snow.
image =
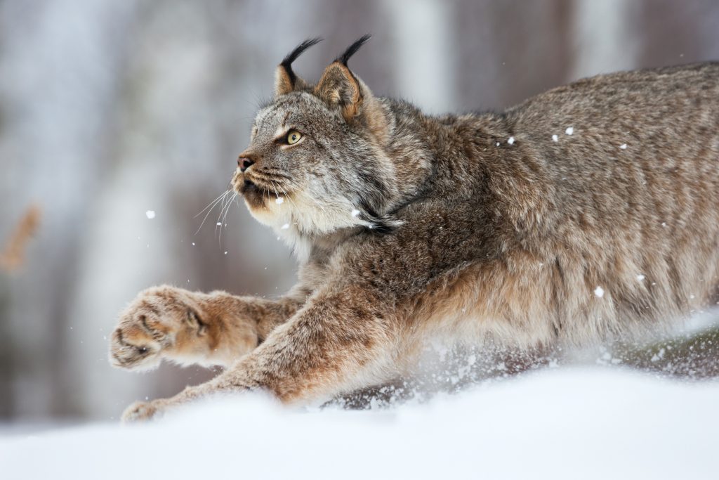
[[133, 370], [155, 368], [162, 358], [203, 363], [213, 345], [201, 296], [172, 286], [140, 292], [120, 314], [111, 339], [111, 363]]

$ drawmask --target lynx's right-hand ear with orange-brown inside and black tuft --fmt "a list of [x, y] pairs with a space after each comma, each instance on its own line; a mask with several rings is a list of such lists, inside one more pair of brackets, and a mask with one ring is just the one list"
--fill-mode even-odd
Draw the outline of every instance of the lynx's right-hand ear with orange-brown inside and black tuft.
[[325, 68], [322, 78], [315, 87], [315, 95], [324, 100], [331, 109], [340, 109], [346, 122], [352, 122], [354, 117], [362, 112], [365, 96], [371, 96], [367, 86], [347, 67], [347, 60], [367, 40], [370, 40], [370, 35], [365, 35], [344, 50], [342, 55]]

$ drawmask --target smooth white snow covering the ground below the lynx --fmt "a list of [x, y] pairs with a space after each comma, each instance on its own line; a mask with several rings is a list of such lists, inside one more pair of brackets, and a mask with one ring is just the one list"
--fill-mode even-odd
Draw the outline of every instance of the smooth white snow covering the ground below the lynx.
[[0, 438], [2, 479], [717, 479], [719, 382], [554, 368], [391, 409], [209, 399]]

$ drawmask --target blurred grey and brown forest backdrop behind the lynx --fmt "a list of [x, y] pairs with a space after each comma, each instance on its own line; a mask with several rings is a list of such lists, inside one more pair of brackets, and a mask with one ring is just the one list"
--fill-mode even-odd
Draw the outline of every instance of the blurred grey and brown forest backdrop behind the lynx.
[[116, 314], [153, 284], [293, 284], [289, 250], [244, 205], [221, 239], [217, 210], [198, 233], [195, 215], [226, 189], [280, 59], [325, 37], [296, 63], [318, 78], [368, 32], [352, 68], [375, 94], [504, 109], [596, 73], [717, 60], [719, 2], [0, 0], [0, 248], [25, 212], [38, 221], [22, 263], [0, 262], [0, 420], [116, 418], [212, 375], [111, 368]]

